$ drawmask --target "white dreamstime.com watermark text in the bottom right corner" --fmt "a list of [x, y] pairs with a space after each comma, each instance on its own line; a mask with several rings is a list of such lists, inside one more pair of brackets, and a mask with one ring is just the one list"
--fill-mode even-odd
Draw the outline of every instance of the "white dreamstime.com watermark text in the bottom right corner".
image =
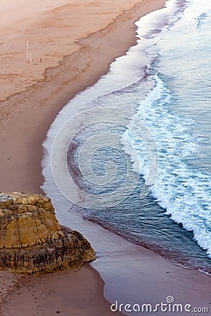
[[167, 296], [165, 302], [155, 303], [155, 304], [129, 304], [129, 303], [119, 303], [118, 301], [115, 301], [115, 303], [110, 305], [110, 310], [112, 312], [139, 312], [144, 313], [146, 315], [147, 313], [153, 313], [153, 312], [198, 312], [198, 313], [207, 313], [209, 312], [207, 307], [193, 307], [193, 305], [187, 303], [187, 304], [181, 304], [181, 303], [175, 303], [173, 296]]

